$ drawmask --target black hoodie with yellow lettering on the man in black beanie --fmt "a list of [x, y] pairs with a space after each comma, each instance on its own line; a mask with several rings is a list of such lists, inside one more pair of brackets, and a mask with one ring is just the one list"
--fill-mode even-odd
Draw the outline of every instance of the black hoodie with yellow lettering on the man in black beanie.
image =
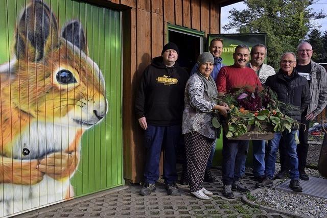
[[153, 126], [180, 125], [188, 77], [188, 72], [177, 62], [167, 67], [162, 57], [153, 58], [144, 70], [136, 93], [136, 117], [145, 116], [147, 123]]

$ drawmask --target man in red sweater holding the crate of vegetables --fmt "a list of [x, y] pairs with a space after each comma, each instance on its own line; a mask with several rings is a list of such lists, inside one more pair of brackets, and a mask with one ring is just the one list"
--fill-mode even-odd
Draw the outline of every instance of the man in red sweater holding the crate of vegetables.
[[[238, 45], [233, 54], [234, 64], [220, 69], [216, 80], [219, 95], [222, 96], [240, 88], [254, 91], [256, 87], [262, 87], [254, 70], [246, 66], [249, 53], [247, 45]], [[226, 133], [223, 132], [222, 182], [224, 184], [223, 195], [226, 198], [234, 198], [232, 190], [248, 191], [240, 183], [241, 168], [245, 163], [248, 148], [248, 140], [229, 140], [226, 138]]]

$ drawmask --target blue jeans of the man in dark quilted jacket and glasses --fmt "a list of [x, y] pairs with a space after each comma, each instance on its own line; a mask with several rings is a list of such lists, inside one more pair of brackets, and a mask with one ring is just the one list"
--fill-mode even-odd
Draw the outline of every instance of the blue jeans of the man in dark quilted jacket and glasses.
[[294, 130], [290, 133], [286, 130], [283, 133], [276, 132], [273, 139], [268, 141], [268, 149], [266, 154], [266, 177], [272, 179], [275, 174], [275, 163], [276, 163], [276, 153], [279, 147], [279, 141], [283, 135], [287, 155], [289, 158], [290, 164], [290, 178], [291, 180], [299, 179], [298, 173], [298, 159], [296, 154], [297, 144], [295, 142], [295, 134], [298, 134], [298, 131]]

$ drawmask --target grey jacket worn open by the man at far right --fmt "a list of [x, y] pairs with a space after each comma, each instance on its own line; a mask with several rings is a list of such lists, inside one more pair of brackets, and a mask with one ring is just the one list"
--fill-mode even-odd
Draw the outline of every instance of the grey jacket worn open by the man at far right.
[[324, 67], [312, 60], [310, 78], [311, 102], [307, 114], [317, 116], [327, 104], [327, 74]]

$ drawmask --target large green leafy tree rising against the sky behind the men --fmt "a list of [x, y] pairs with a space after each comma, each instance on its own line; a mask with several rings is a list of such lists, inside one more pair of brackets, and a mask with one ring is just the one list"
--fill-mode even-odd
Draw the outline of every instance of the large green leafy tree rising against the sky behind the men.
[[246, 0], [247, 9], [230, 10], [231, 21], [223, 28], [240, 33], [267, 33], [267, 63], [278, 70], [281, 55], [295, 52], [309, 32], [310, 19], [321, 18], [322, 13], [308, 8], [312, 3], [313, 0]]

